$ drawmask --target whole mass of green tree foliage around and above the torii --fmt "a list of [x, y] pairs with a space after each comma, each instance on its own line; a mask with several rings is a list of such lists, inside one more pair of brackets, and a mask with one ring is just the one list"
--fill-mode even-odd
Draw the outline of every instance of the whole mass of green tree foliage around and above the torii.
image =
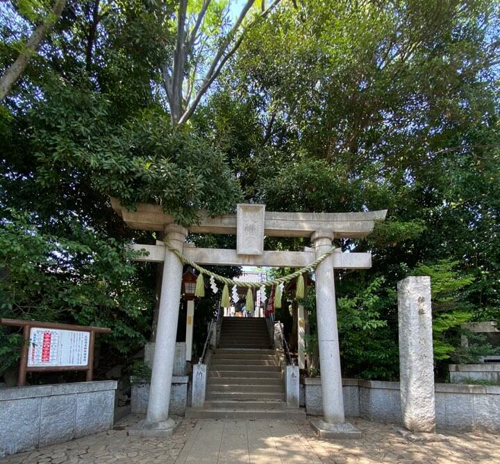
[[[3, 6], [1, 62], [49, 3]], [[200, 6], [189, 2], [190, 30]], [[282, 1], [172, 131], [162, 72], [177, 7], [72, 2], [1, 106], [0, 219], [21, 266], [1, 297], [8, 311], [22, 315], [19, 301], [44, 320], [103, 318], [119, 334], [102, 338], [110, 356], [144, 342], [156, 266], [128, 263], [122, 243], [160, 237], [124, 227], [108, 195], [161, 204], [183, 224], [240, 198], [278, 211], [388, 209], [367, 239], [338, 240], [373, 255], [371, 270], [335, 273], [344, 374], [397, 377], [393, 289], [415, 270], [433, 279], [437, 368], [472, 359], [481, 343], [462, 350], [462, 321], [500, 318], [499, 1]], [[185, 96], [201, 85], [227, 12], [226, 1], [210, 3]], [[233, 237], [196, 241], [235, 248]], [[269, 250], [308, 245], [266, 239]], [[314, 296], [305, 301], [313, 347]], [[199, 305], [200, 343], [215, 303]], [[17, 339], [1, 349], [14, 353]]]

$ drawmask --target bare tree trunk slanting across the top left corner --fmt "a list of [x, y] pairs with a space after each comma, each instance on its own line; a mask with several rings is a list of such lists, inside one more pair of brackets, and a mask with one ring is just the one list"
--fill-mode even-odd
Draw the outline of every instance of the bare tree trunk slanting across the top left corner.
[[66, 0], [56, 0], [53, 5], [52, 10], [47, 14], [45, 19], [42, 21], [42, 24], [35, 28], [33, 31], [33, 35], [29, 38], [28, 42], [26, 42], [26, 46], [24, 46], [24, 51], [19, 53], [17, 60], [10, 65], [5, 74], [0, 78], [0, 101], [3, 101], [4, 98], [9, 94], [10, 89], [12, 89], [12, 85], [14, 85], [17, 80], [22, 76], [26, 66], [28, 66], [29, 60], [35, 55], [40, 43], [45, 37], [45, 34], [51, 26], [59, 19], [63, 9], [65, 7]]

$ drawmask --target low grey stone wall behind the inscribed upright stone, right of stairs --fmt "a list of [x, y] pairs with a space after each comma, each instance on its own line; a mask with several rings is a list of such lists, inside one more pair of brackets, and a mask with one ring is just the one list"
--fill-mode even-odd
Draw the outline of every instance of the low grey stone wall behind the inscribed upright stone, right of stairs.
[[[322, 415], [321, 379], [303, 379], [306, 412]], [[343, 379], [347, 416], [401, 423], [399, 382]], [[500, 431], [500, 386], [435, 384], [440, 429]]]

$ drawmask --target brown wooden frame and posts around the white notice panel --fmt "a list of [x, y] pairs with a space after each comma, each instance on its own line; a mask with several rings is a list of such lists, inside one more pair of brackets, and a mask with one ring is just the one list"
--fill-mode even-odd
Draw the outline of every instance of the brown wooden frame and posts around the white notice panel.
[[[105, 327], [90, 327], [85, 325], [72, 324], [57, 324], [57, 323], [40, 323], [35, 320], [21, 319], [0, 319], [0, 325], [10, 325], [23, 327], [23, 345], [21, 350], [21, 358], [19, 359], [19, 375], [17, 376], [17, 386], [26, 385], [27, 372], [58, 372], [63, 370], [85, 370], [86, 381], [92, 381], [94, 376], [94, 343], [95, 334], [109, 334], [111, 329]], [[28, 350], [30, 343], [30, 332], [32, 328], [37, 329], [56, 329], [56, 330], [71, 330], [72, 332], [88, 332], [88, 363], [86, 366], [28, 366]]]

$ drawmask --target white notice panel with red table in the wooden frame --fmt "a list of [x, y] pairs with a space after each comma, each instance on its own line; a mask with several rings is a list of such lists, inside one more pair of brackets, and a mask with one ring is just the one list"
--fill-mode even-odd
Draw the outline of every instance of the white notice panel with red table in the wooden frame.
[[90, 332], [32, 327], [28, 368], [87, 366]]

